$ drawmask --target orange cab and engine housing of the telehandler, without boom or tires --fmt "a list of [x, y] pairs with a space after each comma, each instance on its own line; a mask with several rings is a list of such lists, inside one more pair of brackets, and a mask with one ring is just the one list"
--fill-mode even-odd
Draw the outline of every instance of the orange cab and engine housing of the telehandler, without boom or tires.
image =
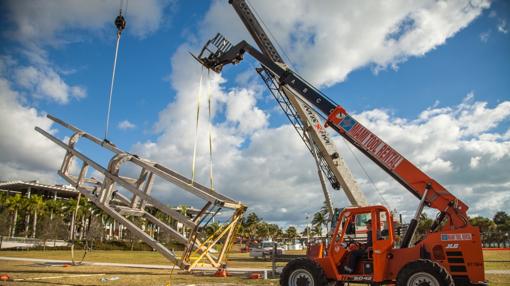
[[[349, 259], [349, 224], [357, 215], [370, 216], [372, 220], [372, 247], [356, 265], [354, 273], [342, 273]], [[385, 218], [385, 221], [381, 219]], [[387, 230], [384, 238], [381, 227]], [[351, 240], [352, 242], [352, 240]], [[320, 249], [313, 251], [313, 249]], [[326, 252], [322, 249], [327, 250]], [[400, 270], [409, 262], [428, 259], [439, 263], [461, 285], [478, 284], [485, 281], [483, 256], [478, 228], [467, 225], [455, 230], [439, 230], [425, 235], [414, 246], [397, 248], [393, 231], [393, 218], [384, 206], [369, 206], [345, 209], [336, 223], [336, 228], [327, 245], [317, 245], [309, 252], [324, 270], [326, 277], [336, 281], [383, 282], [397, 280]]]

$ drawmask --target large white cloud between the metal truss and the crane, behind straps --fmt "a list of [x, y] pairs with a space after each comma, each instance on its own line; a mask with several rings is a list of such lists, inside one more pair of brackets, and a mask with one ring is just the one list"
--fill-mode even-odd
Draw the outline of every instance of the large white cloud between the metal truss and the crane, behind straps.
[[[190, 102], [195, 103], [197, 99], [201, 68], [187, 50], [187, 46], [182, 46], [172, 57], [174, 69], [188, 68], [181, 68], [179, 73], [171, 76], [177, 96], [160, 112], [156, 124], [160, 136], [155, 141], [137, 144], [132, 151], [191, 177], [196, 105]], [[300, 204], [302, 198], [317, 202], [306, 207], [310, 213], [313, 207], [320, 207], [321, 193], [316, 184], [318, 178], [313, 169], [314, 163], [293, 127], [267, 128], [269, 115], [257, 107], [256, 92], [246, 88], [225, 91], [220, 88], [223, 82], [220, 76], [211, 74], [209, 91], [215, 122], [212, 135], [216, 190], [247, 203], [250, 210], [272, 221], [302, 216], [300, 210], [294, 207]], [[201, 106], [196, 176], [199, 182], [208, 185], [205, 95], [201, 96]], [[301, 196], [289, 197], [290, 192]], [[197, 206], [193, 197], [171, 186], [160, 185], [157, 194], [169, 203], [187, 200]], [[278, 208], [287, 209], [287, 213], [272, 212], [275, 206], [268, 202], [277, 202]]]

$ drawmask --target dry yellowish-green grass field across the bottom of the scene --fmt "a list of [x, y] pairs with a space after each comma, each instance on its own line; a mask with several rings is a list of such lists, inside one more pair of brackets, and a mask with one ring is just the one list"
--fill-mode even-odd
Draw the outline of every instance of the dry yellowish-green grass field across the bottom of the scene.
[[[46, 258], [69, 260], [69, 251], [1, 251], [0, 256]], [[486, 261], [510, 261], [510, 251], [485, 251]], [[162, 264], [168, 262], [156, 252], [148, 251], [93, 251], [86, 261], [115, 262], [137, 264]], [[229, 256], [229, 267], [270, 268], [271, 263], [255, 260], [246, 253], [232, 253]], [[509, 262], [486, 262], [486, 270], [509, 270]], [[188, 274], [174, 271], [170, 277], [169, 270], [137, 269], [127, 267], [104, 266], [72, 266], [62, 267], [48, 264], [0, 261], [0, 273], [8, 273], [16, 279], [44, 278], [41, 280], [25, 280], [16, 282], [0, 282], [0, 285], [278, 285], [278, 279], [251, 280], [246, 275], [235, 275], [228, 278], [212, 277], [211, 274]], [[98, 275], [103, 274], [103, 275]], [[90, 275], [72, 277], [76, 275]], [[62, 277], [64, 276], [64, 277]], [[67, 276], [67, 277], [66, 277]], [[57, 277], [57, 278], [53, 278]], [[118, 280], [101, 281], [118, 277]], [[510, 286], [510, 275], [488, 274], [490, 285]], [[170, 283], [171, 282], [171, 283]]]

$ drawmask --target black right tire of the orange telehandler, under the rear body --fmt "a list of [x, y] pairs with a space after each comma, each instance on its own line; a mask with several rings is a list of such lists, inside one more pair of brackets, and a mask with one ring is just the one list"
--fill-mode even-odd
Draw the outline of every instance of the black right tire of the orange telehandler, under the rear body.
[[397, 276], [397, 286], [455, 286], [452, 276], [439, 263], [420, 259], [406, 264]]

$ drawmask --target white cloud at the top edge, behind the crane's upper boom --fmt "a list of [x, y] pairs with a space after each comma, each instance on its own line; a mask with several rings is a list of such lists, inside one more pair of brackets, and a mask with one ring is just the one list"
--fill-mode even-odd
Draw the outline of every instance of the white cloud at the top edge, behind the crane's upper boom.
[[[353, 70], [374, 64], [395, 68], [423, 56], [466, 27], [489, 1], [250, 1], [300, 73], [332, 85]], [[226, 1], [215, 1], [201, 36], [216, 32], [233, 42], [251, 41]], [[282, 17], [281, 11], [285, 11]], [[205, 35], [204, 35], [205, 34]], [[252, 41], [251, 41], [252, 42]]]

